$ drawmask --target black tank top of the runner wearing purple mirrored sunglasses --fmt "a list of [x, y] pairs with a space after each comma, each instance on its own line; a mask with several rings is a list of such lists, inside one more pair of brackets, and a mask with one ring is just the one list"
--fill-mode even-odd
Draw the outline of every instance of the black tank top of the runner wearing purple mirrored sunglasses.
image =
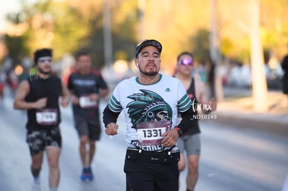
[[186, 90], [187, 94], [189, 95], [192, 103], [193, 103], [193, 117], [194, 117], [194, 124], [193, 126], [191, 126], [191, 128], [189, 128], [183, 135], [193, 135], [196, 133], [200, 133], [200, 128], [199, 128], [199, 124], [198, 124], [198, 113], [197, 113], [197, 104], [198, 101], [196, 99], [196, 94], [195, 94], [195, 83], [194, 83], [194, 78], [192, 78], [190, 87], [188, 90]]

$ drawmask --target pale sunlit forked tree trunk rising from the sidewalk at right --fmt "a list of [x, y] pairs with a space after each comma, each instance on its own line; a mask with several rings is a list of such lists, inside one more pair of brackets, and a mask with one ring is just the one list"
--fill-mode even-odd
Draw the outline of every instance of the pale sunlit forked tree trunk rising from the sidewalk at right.
[[[245, 2], [245, 3], [244, 3]], [[248, 33], [250, 38], [250, 56], [253, 83], [253, 109], [256, 112], [268, 110], [267, 85], [264, 74], [264, 51], [260, 35], [259, 0], [241, 1], [241, 6], [235, 5], [239, 26]], [[245, 8], [245, 13], [239, 10]]]

